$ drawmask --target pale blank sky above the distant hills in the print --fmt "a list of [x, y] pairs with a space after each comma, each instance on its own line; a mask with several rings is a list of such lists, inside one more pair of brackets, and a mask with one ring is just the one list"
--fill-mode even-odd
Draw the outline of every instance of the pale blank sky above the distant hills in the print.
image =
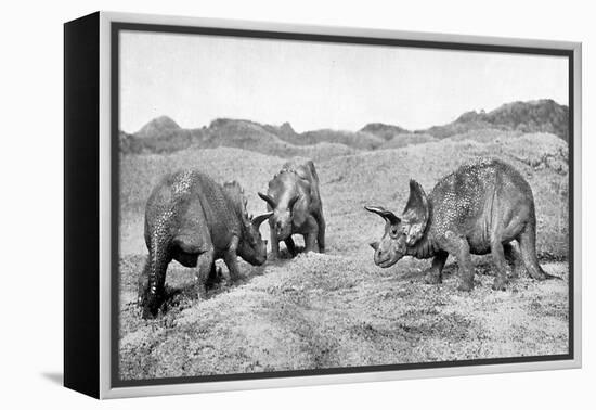
[[228, 117], [299, 132], [367, 123], [415, 130], [537, 99], [568, 105], [567, 57], [120, 33], [127, 132], [160, 115], [183, 128]]

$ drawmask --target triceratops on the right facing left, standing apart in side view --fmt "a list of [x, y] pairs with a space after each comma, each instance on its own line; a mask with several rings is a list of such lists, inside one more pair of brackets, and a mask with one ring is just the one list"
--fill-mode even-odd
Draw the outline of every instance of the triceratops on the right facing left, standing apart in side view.
[[[536, 258], [536, 217], [532, 190], [510, 165], [482, 158], [441, 179], [430, 195], [414, 180], [401, 217], [380, 206], [367, 210], [386, 220], [385, 234], [375, 249], [375, 264], [388, 268], [410, 255], [433, 257], [427, 283], [440, 283], [449, 255], [457, 259], [461, 291], [474, 287], [470, 254], [492, 255], [496, 267], [494, 290], [505, 290], [507, 262], [519, 260], [530, 277], [556, 278]], [[520, 253], [511, 245], [519, 243]]]

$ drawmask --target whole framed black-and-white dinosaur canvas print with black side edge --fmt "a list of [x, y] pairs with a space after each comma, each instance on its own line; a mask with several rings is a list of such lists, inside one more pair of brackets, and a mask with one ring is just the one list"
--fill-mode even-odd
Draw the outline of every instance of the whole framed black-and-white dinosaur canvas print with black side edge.
[[581, 366], [581, 44], [65, 24], [64, 381]]

